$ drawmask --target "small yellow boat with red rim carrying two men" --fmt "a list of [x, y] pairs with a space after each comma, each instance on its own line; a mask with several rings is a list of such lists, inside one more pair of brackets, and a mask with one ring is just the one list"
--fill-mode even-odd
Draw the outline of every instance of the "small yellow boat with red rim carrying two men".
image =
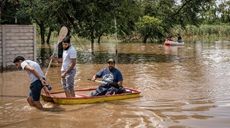
[[88, 104], [88, 103], [98, 103], [106, 102], [112, 100], [123, 100], [129, 98], [136, 98], [140, 96], [140, 91], [133, 88], [125, 88], [126, 93], [114, 94], [114, 95], [100, 95], [100, 96], [90, 96], [91, 92], [95, 91], [97, 88], [87, 88], [87, 89], [76, 89], [75, 97], [65, 97], [64, 91], [51, 92], [50, 96], [46, 94], [41, 94], [41, 97], [46, 102], [54, 102], [56, 104], [63, 105], [73, 105], [73, 104]]

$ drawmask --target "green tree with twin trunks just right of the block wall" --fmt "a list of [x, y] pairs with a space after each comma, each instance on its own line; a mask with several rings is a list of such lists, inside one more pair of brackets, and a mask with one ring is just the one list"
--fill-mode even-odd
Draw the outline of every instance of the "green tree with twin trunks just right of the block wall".
[[53, 6], [53, 2], [46, 0], [21, 0], [20, 2], [27, 14], [39, 26], [41, 44], [49, 44], [52, 31], [59, 30], [62, 26], [57, 23], [57, 8]]

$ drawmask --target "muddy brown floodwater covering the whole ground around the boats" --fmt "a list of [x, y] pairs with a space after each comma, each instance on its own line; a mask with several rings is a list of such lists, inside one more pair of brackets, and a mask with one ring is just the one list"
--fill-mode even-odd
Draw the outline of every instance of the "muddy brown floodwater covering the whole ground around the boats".
[[[56, 105], [65, 111], [46, 112], [26, 101], [28, 74], [21, 70], [0, 73], [0, 127], [2, 128], [184, 128], [230, 127], [230, 42], [159, 44], [95, 44], [78, 50], [75, 89], [98, 87], [88, 81], [109, 58], [117, 60], [124, 86], [141, 97], [95, 104]], [[13, 61], [13, 60], [12, 60]], [[49, 63], [49, 60], [46, 60]], [[47, 81], [52, 91], [62, 90], [61, 64], [53, 63]], [[47, 66], [43, 67], [44, 73]], [[51, 92], [52, 92], [51, 91]]]

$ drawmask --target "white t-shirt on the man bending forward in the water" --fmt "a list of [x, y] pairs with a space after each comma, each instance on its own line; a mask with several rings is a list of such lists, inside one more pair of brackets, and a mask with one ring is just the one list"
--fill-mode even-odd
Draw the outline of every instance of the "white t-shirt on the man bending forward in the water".
[[[31, 60], [24, 60], [21, 63], [22, 69], [25, 70], [25, 67], [27, 65], [29, 65], [30, 67], [34, 68], [41, 77], [45, 78], [44, 73], [42, 72], [42, 69], [41, 69], [41, 67], [39, 66], [39, 64], [37, 62], [31, 61]], [[34, 81], [39, 79], [33, 73], [31, 73], [30, 71], [28, 71], [28, 70], [25, 70], [25, 71], [29, 74], [31, 83], [33, 83]]]

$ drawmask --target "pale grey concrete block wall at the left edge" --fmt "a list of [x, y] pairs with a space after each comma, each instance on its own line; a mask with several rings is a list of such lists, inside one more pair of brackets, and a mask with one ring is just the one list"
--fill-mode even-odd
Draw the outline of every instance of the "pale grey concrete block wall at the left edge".
[[0, 25], [0, 70], [14, 68], [19, 55], [36, 60], [36, 26]]

